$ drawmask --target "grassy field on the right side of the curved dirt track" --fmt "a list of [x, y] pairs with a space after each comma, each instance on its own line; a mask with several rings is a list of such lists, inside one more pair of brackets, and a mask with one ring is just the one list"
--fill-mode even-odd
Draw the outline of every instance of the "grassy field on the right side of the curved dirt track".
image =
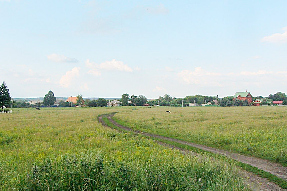
[[138, 107], [115, 119], [148, 133], [287, 165], [287, 107]]

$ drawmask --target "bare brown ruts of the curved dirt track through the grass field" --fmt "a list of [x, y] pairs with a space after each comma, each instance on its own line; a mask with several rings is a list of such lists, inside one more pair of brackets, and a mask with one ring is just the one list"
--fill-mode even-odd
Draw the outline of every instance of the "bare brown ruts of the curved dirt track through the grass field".
[[[160, 139], [164, 139], [164, 140], [168, 140], [168, 141], [181, 143], [181, 144], [184, 144], [184, 145], [189, 145], [189, 146], [196, 147], [196, 148], [199, 148], [199, 149], [202, 149], [202, 150], [205, 150], [205, 151], [209, 151], [209, 152], [212, 152], [212, 153], [221, 154], [221, 155], [230, 157], [230, 158], [232, 158], [232, 159], [234, 159], [236, 161], [240, 161], [240, 162], [249, 164], [251, 166], [254, 166], [256, 168], [259, 168], [261, 170], [264, 170], [266, 172], [269, 172], [269, 173], [271, 173], [271, 174], [273, 174], [273, 175], [275, 175], [275, 176], [277, 176], [279, 178], [282, 178], [284, 180], [287, 180], [287, 168], [283, 167], [282, 165], [280, 165], [278, 163], [272, 163], [272, 162], [270, 162], [268, 160], [264, 160], [264, 159], [261, 159], [261, 158], [245, 156], [245, 155], [241, 155], [241, 154], [237, 154], [237, 153], [231, 153], [231, 152], [228, 152], [228, 151], [225, 151], [225, 150], [215, 149], [215, 148], [212, 148], [212, 147], [207, 147], [207, 146], [199, 145], [199, 144], [195, 144], [195, 143], [189, 143], [189, 142], [186, 142], [186, 141], [181, 141], [181, 140], [173, 139], [173, 138], [170, 138], [170, 137], [164, 137], [164, 136], [160, 136], [160, 135], [154, 135], [154, 134], [151, 134], [151, 133], [145, 133], [145, 132], [133, 130], [133, 129], [130, 129], [129, 127], [125, 127], [125, 126], [120, 125], [117, 122], [115, 122], [112, 119], [112, 117], [114, 115], [115, 115], [115, 113], [99, 116], [99, 122], [102, 123], [102, 125], [108, 127], [108, 125], [106, 125], [106, 123], [102, 120], [102, 117], [106, 116], [108, 118], [108, 120], [111, 123], [113, 123], [114, 125], [116, 125], [117, 127], [120, 127], [121, 129], [125, 129], [127, 131], [132, 131], [135, 134], [141, 134], [141, 135], [145, 135], [145, 136], [149, 136], [149, 137], [156, 137], [156, 138], [160, 138]], [[166, 143], [161, 143], [160, 141], [158, 141], [158, 142], [160, 144], [164, 144], [164, 145], [169, 146], [169, 147], [174, 147], [174, 146], [166, 144]], [[178, 147], [174, 147], [174, 148], [180, 149], [180, 150], [185, 151], [185, 152], [190, 152], [189, 150], [181, 149], [181, 148], [178, 148]], [[262, 185], [257, 187], [257, 188], [255, 188], [255, 190], [283, 190], [282, 188], [280, 188], [279, 186], [277, 186], [273, 182], [269, 182], [269, 180], [267, 180], [265, 178], [261, 178], [259, 176], [256, 176], [256, 175], [254, 175], [251, 172], [244, 171], [243, 172], [243, 176], [250, 177], [250, 180], [247, 181], [248, 183], [251, 183], [251, 182], [253, 182], [253, 183], [256, 183], [256, 182], [257, 183], [259, 183], [259, 182], [262, 183]]]

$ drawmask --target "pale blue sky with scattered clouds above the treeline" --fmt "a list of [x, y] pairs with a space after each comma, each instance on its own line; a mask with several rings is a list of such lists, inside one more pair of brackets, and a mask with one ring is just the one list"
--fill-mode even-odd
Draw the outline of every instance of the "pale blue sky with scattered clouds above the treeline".
[[0, 0], [11, 97], [287, 92], [287, 1]]

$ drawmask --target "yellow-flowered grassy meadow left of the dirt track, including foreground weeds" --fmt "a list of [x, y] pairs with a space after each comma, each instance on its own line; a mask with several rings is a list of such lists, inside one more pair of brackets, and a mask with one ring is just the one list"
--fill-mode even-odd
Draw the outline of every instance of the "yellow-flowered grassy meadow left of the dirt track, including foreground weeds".
[[97, 120], [117, 111], [167, 118], [163, 110], [43, 108], [1, 114], [0, 190], [249, 190], [233, 165], [206, 154], [183, 155]]

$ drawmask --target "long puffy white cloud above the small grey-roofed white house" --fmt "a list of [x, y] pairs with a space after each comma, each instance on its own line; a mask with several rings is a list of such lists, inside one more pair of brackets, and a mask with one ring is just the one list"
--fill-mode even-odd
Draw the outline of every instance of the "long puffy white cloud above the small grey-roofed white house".
[[129, 67], [127, 64], [124, 64], [122, 61], [118, 60], [111, 60], [111, 61], [106, 61], [102, 62], [101, 64], [96, 64], [94, 62], [90, 62], [89, 59], [86, 61], [86, 65], [89, 68], [94, 68], [94, 69], [103, 69], [103, 70], [119, 70], [119, 71], [125, 71], [125, 72], [132, 72], [133, 69]]

